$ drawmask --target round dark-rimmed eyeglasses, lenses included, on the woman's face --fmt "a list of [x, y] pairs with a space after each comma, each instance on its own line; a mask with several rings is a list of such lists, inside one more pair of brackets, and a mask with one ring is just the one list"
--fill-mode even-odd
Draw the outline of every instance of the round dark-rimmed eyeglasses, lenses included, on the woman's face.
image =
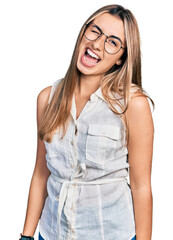
[[107, 36], [102, 30], [95, 25], [94, 23], [86, 24], [86, 28], [84, 31], [84, 37], [89, 41], [95, 41], [101, 37], [101, 35], [105, 35], [106, 39], [104, 42], [105, 51], [109, 54], [116, 54], [118, 53], [122, 47], [122, 41], [119, 37], [116, 36]]

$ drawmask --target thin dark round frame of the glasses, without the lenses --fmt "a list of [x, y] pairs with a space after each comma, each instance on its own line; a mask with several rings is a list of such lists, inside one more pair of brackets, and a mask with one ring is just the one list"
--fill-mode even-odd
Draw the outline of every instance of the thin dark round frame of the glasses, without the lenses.
[[[99, 39], [102, 35], [105, 35], [105, 36], [106, 36], [106, 39], [105, 39], [105, 41], [104, 41], [104, 49], [105, 49], [105, 51], [106, 51], [107, 53], [109, 53], [109, 54], [111, 54], [111, 55], [117, 54], [121, 49], [124, 49], [124, 50], [126, 49], [126, 47], [125, 47], [125, 48], [122, 47], [123, 44], [122, 44], [122, 41], [121, 41], [121, 39], [120, 39], [119, 37], [113, 36], [113, 35], [108, 36], [108, 35], [106, 35], [99, 27], [98, 27], [98, 30], [100, 31], [100, 35], [99, 35], [96, 39], [91, 40], [91, 39], [87, 38], [87, 37], [85, 36], [85, 32], [86, 32], [88, 26], [91, 25], [91, 24], [92, 24], [92, 25], [95, 25], [96, 27], [98, 27], [96, 24], [94, 24], [94, 23], [92, 23], [92, 22], [85, 24], [85, 29], [84, 29], [83, 36], [84, 36], [87, 40], [93, 42], [93, 41], [96, 41], [97, 39]], [[107, 42], [107, 39], [108, 39], [109, 37], [114, 37], [114, 38], [116, 38], [116, 39], [121, 43], [121, 47], [120, 47], [120, 49], [119, 49], [116, 53], [110, 53], [110, 52], [108, 52], [108, 51], [106, 50], [106, 48], [105, 48], [105, 43]]]

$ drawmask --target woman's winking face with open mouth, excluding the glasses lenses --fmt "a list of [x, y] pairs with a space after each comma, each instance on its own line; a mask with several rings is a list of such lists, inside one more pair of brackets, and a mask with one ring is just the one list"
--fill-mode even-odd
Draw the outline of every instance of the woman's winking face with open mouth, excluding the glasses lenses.
[[[124, 25], [120, 18], [109, 13], [103, 13], [96, 17], [93, 23], [107, 36], [113, 35], [120, 38], [122, 47], [125, 47]], [[105, 39], [106, 36], [104, 34], [94, 41], [90, 41], [83, 36], [79, 45], [77, 60], [77, 68], [82, 74], [100, 75], [100, 77], [103, 77], [114, 64], [121, 64], [120, 58], [124, 53], [124, 49], [121, 48], [116, 54], [109, 54], [104, 49]], [[97, 58], [99, 58], [99, 60]]]

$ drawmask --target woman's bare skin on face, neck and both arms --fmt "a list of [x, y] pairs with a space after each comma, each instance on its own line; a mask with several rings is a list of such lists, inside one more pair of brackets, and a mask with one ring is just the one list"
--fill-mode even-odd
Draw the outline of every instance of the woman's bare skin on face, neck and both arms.
[[[106, 35], [116, 35], [125, 43], [122, 21], [108, 13], [104, 13], [94, 20]], [[82, 39], [79, 47], [77, 67], [81, 71], [80, 85], [75, 88], [77, 115], [88, 101], [90, 95], [100, 86], [104, 73], [114, 64], [121, 64], [123, 49], [115, 55], [104, 50], [105, 36], [90, 42]], [[81, 56], [86, 47], [90, 47], [101, 57], [101, 61], [89, 68], [82, 64]], [[44, 110], [48, 104], [51, 87], [43, 89], [37, 98], [37, 126], [39, 127]], [[145, 113], [145, 114], [144, 114]], [[149, 103], [144, 96], [135, 94], [130, 100], [126, 112], [129, 131], [129, 177], [133, 195], [136, 236], [137, 240], [151, 240], [152, 231], [152, 190], [151, 165], [153, 152], [154, 127]], [[23, 234], [33, 236], [47, 197], [46, 183], [50, 172], [46, 166], [46, 149], [44, 142], [37, 140], [37, 155], [33, 172], [27, 214]]]

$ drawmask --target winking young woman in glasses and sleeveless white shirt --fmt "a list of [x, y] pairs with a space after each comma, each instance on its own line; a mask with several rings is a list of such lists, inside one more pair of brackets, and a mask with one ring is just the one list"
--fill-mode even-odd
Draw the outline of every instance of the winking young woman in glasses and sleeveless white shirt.
[[65, 77], [38, 95], [21, 239], [33, 239], [39, 221], [44, 240], [151, 240], [148, 98], [135, 17], [119, 5], [97, 10], [81, 28]]

